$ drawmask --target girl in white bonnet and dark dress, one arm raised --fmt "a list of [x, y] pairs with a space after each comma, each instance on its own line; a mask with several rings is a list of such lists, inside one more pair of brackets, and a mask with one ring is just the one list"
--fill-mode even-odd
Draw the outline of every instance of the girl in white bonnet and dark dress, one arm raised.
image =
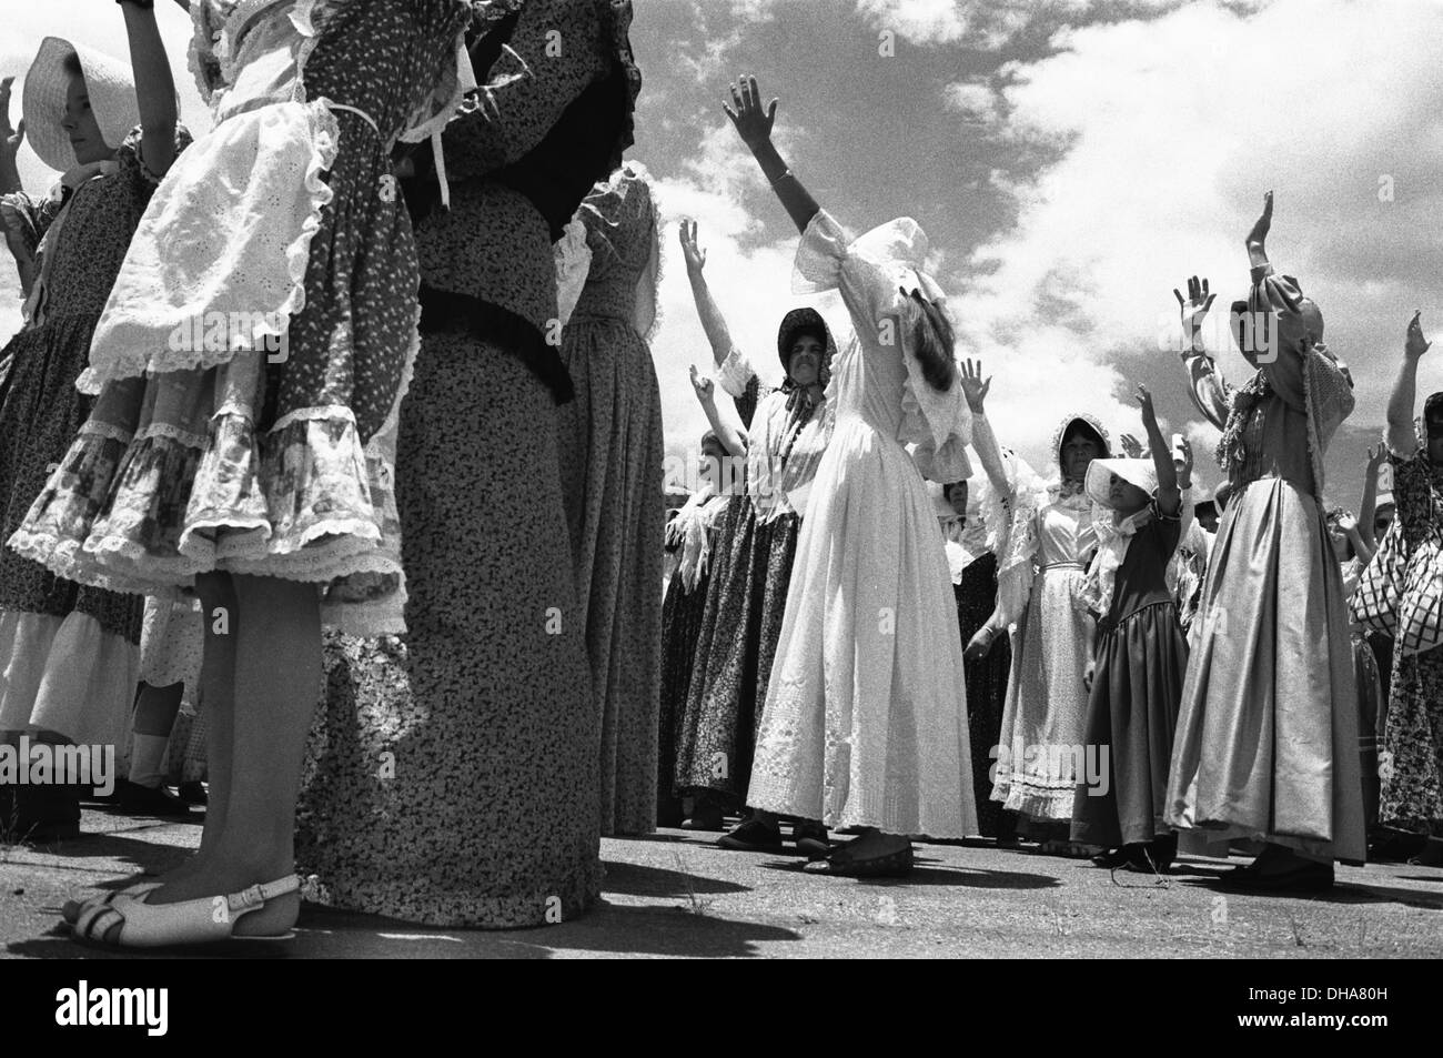
[[1078, 784], [1072, 840], [1111, 849], [1098, 857], [1101, 866], [1165, 873], [1177, 849], [1163, 810], [1188, 670], [1167, 564], [1186, 520], [1192, 452], [1183, 442], [1182, 468], [1176, 468], [1152, 394], [1139, 385], [1137, 398], [1152, 458], [1094, 459], [1087, 473], [1088, 497], [1111, 512], [1097, 527], [1100, 546], [1084, 586], [1098, 618], [1098, 639], [1085, 676], [1082, 745], [1101, 764], [1088, 779], [1101, 778], [1105, 785]]

